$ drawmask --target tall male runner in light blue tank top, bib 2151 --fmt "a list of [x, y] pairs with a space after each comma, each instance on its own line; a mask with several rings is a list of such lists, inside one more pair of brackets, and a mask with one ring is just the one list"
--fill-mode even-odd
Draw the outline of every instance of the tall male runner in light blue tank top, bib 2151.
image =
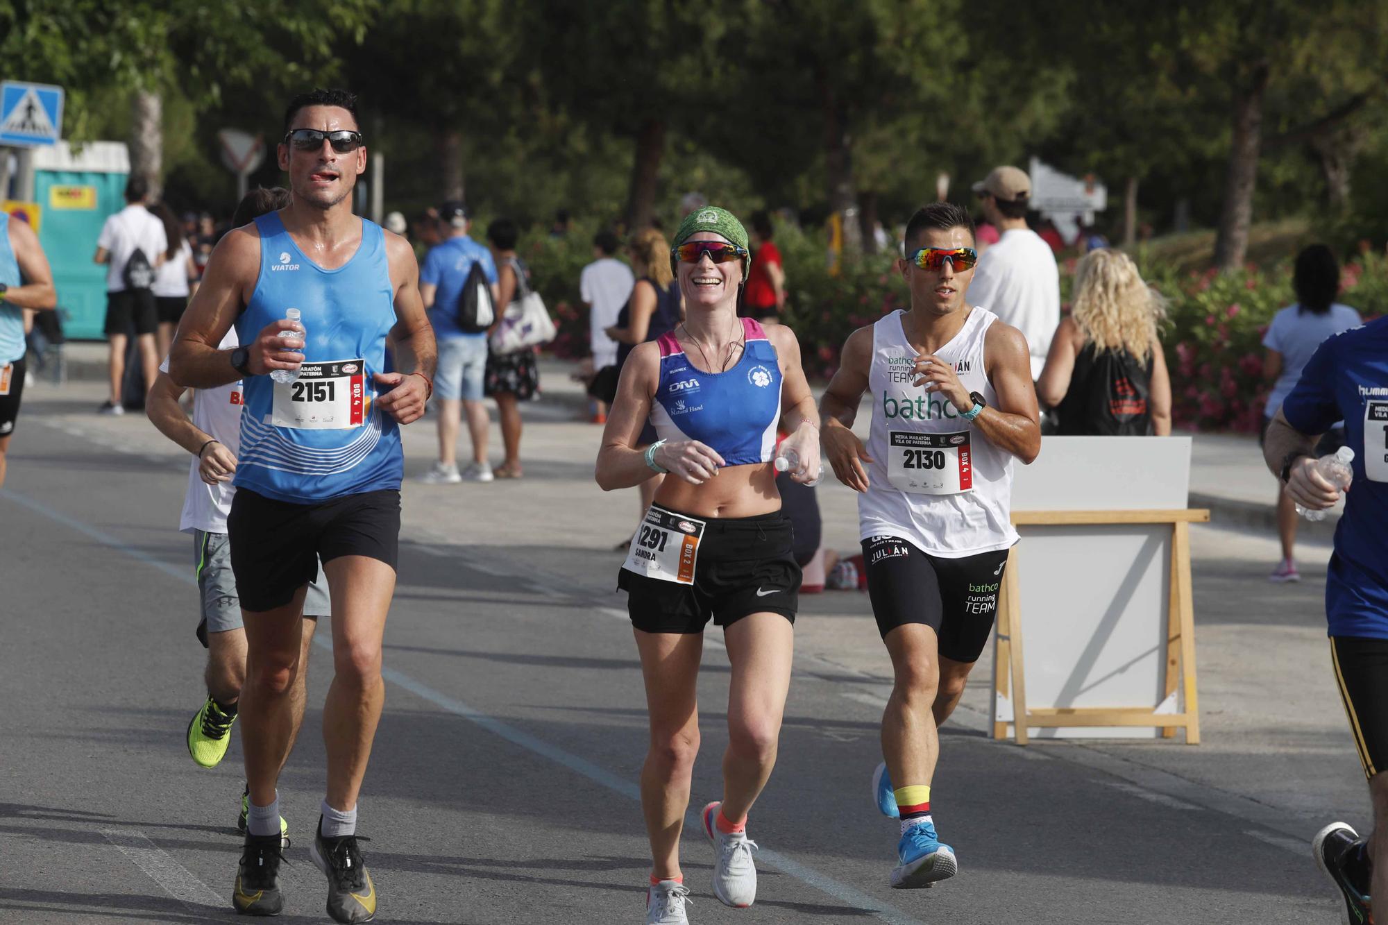
[[[384, 699], [400, 425], [423, 414], [437, 351], [414, 250], [351, 211], [366, 169], [357, 97], [294, 97], [278, 156], [291, 201], [212, 251], [169, 374], [197, 389], [242, 379], [244, 390], [228, 536], [246, 626], [239, 715], [250, 807], [233, 906], [276, 915], [285, 904], [275, 785], [297, 733], [304, 593], [322, 558], [336, 674], [323, 706], [328, 794], [311, 854], [328, 876], [329, 914], [364, 922], [376, 892], [357, 846], [357, 794]], [[218, 350], [232, 325], [243, 346]]]

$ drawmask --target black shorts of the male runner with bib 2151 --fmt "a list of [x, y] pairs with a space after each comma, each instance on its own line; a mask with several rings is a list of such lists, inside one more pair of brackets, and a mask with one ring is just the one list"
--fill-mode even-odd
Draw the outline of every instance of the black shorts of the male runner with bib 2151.
[[273, 610], [314, 581], [319, 558], [326, 565], [339, 556], [365, 556], [396, 568], [400, 492], [384, 489], [319, 504], [290, 504], [237, 489], [226, 533], [242, 610]]

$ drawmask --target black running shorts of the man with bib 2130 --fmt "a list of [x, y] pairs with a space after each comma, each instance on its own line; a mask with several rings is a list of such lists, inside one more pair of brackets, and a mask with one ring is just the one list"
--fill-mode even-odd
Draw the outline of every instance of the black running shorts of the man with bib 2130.
[[897, 626], [924, 624], [936, 631], [940, 654], [979, 661], [998, 615], [998, 590], [1008, 550], [942, 558], [895, 536], [863, 540], [867, 594], [886, 639]]

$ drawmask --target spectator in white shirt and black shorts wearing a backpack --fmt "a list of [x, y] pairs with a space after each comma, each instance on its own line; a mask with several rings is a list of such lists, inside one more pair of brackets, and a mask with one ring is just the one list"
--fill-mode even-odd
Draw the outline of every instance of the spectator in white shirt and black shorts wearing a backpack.
[[[154, 303], [154, 271], [164, 262], [168, 238], [164, 222], [144, 207], [150, 185], [133, 175], [125, 183], [125, 208], [105, 219], [96, 240], [99, 264], [105, 272], [105, 336], [111, 344], [111, 399], [101, 414], [125, 414], [121, 389], [125, 382], [125, 346], [135, 332], [144, 372], [144, 389], [154, 385], [160, 368], [154, 332], [158, 312]], [[128, 272], [129, 271], [129, 272]]]

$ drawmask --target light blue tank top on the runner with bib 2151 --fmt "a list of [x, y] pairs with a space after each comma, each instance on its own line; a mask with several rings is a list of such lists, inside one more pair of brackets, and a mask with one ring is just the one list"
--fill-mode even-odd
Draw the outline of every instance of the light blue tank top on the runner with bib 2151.
[[250, 343], [287, 308], [298, 308], [307, 340], [297, 382], [243, 381], [236, 488], [297, 504], [400, 490], [400, 425], [376, 408], [372, 381], [390, 372], [386, 336], [396, 324], [380, 226], [361, 219], [361, 246], [337, 269], [304, 256], [278, 212], [257, 218], [255, 228], [260, 279], [236, 335]]

